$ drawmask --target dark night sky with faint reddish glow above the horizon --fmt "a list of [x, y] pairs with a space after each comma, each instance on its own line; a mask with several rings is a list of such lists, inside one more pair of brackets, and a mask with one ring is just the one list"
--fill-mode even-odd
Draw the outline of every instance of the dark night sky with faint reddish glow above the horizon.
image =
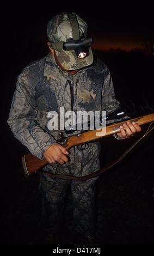
[[[8, 9], [4, 9], [4, 13], [7, 14], [4, 23], [4, 40], [9, 40], [8, 53], [16, 55], [17, 48], [21, 50], [21, 44], [24, 48], [27, 45], [26, 49], [22, 50], [23, 54], [35, 51], [34, 44], [45, 39], [48, 20], [60, 11], [75, 11], [81, 15], [89, 25], [89, 33], [94, 38], [94, 47], [100, 50], [106, 50], [108, 47], [121, 47], [126, 50], [141, 47], [143, 40], [153, 36], [151, 3], [94, 2], [63, 1], [62, 4], [51, 4], [51, 1], [26, 1], [22, 4], [18, 1], [11, 2]], [[9, 48], [10, 41], [14, 49]]]

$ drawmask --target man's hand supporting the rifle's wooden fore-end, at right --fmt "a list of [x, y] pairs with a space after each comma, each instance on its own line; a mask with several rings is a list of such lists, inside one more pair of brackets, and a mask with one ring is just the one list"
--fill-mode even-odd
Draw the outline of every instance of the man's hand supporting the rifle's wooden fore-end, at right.
[[126, 124], [120, 126], [120, 131], [121, 132], [118, 132], [117, 135], [122, 139], [126, 139], [133, 136], [136, 132], [140, 132], [141, 128], [137, 123], [131, 123], [130, 121], [127, 121]]

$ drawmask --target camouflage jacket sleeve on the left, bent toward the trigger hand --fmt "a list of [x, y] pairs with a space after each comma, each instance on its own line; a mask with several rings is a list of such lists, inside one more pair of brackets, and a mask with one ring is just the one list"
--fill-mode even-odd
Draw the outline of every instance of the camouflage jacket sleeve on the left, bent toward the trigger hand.
[[29, 82], [27, 70], [18, 77], [8, 124], [14, 136], [40, 159], [43, 158], [43, 153], [56, 142], [38, 125], [35, 88]]

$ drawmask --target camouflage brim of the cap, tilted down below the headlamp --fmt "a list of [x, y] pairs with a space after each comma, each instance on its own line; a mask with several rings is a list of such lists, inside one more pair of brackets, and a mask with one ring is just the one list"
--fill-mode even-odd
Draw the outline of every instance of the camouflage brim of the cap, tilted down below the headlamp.
[[79, 59], [76, 56], [75, 51], [56, 51], [56, 55], [59, 59], [59, 62], [66, 70], [77, 70], [82, 69], [85, 66], [89, 66], [93, 63], [93, 52], [91, 47], [89, 47], [89, 55], [83, 59]]

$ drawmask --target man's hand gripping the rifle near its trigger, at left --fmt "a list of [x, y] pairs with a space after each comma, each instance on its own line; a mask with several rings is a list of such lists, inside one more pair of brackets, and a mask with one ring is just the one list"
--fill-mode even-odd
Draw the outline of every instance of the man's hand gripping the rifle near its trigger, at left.
[[65, 155], [68, 155], [69, 152], [58, 143], [54, 143], [50, 148], [44, 152], [44, 157], [49, 163], [65, 163], [68, 161], [68, 158]]

